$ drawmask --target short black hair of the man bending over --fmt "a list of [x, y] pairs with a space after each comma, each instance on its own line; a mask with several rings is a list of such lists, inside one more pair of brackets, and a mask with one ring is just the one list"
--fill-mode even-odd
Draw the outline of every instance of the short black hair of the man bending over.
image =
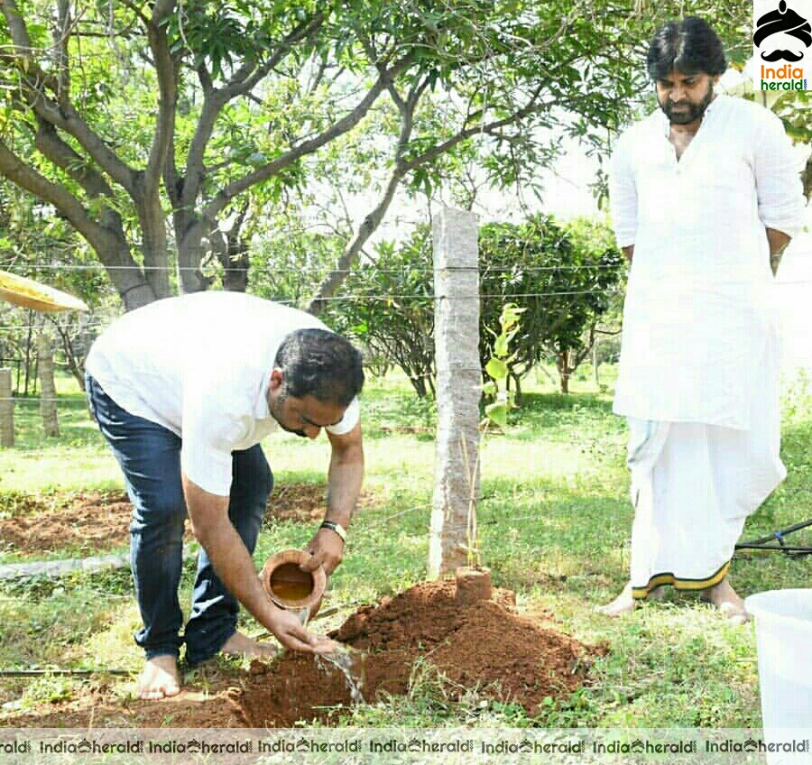
[[327, 329], [296, 329], [281, 342], [273, 362], [282, 371], [283, 393], [347, 407], [364, 387], [360, 351]]

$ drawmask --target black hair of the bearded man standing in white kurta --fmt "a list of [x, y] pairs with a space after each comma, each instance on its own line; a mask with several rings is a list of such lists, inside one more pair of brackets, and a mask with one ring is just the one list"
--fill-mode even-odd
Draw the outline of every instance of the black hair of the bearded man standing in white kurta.
[[715, 77], [727, 69], [722, 41], [713, 27], [697, 16], [663, 24], [651, 38], [646, 57], [649, 77], [656, 82], [670, 72]]

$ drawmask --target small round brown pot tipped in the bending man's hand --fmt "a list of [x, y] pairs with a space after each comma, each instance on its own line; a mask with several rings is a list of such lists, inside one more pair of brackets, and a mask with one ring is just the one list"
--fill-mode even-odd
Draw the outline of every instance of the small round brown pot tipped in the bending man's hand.
[[265, 561], [260, 574], [263, 588], [273, 603], [304, 614], [307, 617], [303, 619], [304, 623], [316, 615], [327, 589], [327, 574], [323, 567], [319, 566], [315, 571], [301, 570], [300, 565], [310, 558], [305, 550], [281, 550]]

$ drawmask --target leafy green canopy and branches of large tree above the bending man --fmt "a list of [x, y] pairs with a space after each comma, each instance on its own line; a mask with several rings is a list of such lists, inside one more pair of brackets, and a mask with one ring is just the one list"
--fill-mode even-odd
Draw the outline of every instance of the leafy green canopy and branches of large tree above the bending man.
[[[361, 192], [309, 285], [316, 312], [399, 187], [430, 192], [471, 157], [495, 185], [531, 183], [550, 135], [622, 122], [641, 42], [699, 4], [642, 5], [5, 0], [0, 174], [78, 233], [128, 309], [245, 289], [265, 217], [314, 185], [326, 206]], [[748, 4], [724, 5], [734, 28]]]

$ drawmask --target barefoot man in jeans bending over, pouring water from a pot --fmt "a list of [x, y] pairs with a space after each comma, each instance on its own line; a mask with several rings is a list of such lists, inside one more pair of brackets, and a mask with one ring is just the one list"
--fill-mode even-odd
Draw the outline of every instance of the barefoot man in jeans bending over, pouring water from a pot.
[[[282, 645], [325, 651], [264, 593], [251, 558], [273, 475], [259, 442], [278, 424], [332, 447], [325, 521], [307, 568], [341, 562], [364, 474], [357, 394], [361, 355], [302, 311], [235, 292], [159, 300], [97, 338], [86, 364], [90, 408], [133, 502], [130, 559], [146, 654], [142, 698], [180, 691], [178, 656], [265, 656], [272, 646], [236, 631], [239, 604]], [[184, 520], [201, 549], [189, 621], [180, 636]]]

